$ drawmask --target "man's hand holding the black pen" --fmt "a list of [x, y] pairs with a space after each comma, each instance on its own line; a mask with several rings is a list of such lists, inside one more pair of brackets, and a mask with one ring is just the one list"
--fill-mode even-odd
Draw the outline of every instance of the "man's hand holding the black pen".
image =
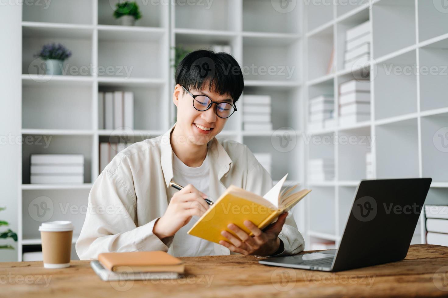
[[183, 226], [185, 226], [193, 216], [202, 216], [208, 204], [204, 200], [207, 195], [199, 192], [192, 184], [188, 184], [180, 191], [176, 192], [165, 211], [165, 214], [155, 222], [153, 233], [160, 239], [170, 237]]

